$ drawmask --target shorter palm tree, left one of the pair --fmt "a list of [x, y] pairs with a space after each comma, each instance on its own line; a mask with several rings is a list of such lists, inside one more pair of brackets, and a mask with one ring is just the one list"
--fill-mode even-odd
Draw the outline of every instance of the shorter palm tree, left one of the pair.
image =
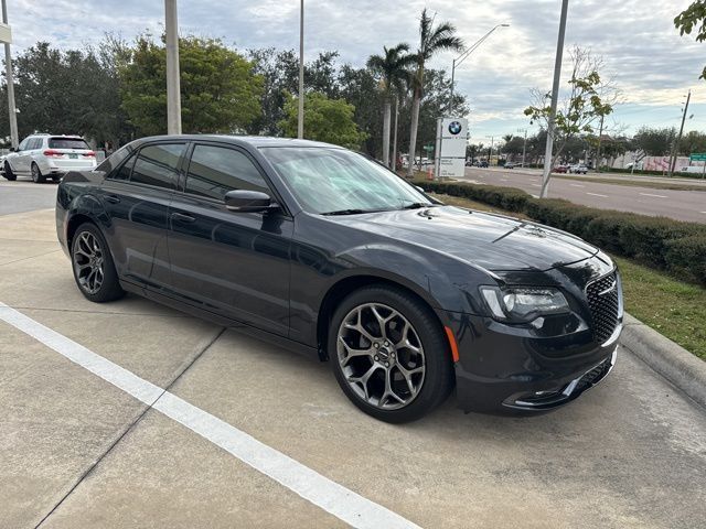
[[[379, 85], [385, 97], [385, 114], [383, 120], [383, 163], [389, 166], [389, 126], [393, 93], [409, 77], [407, 69], [415, 63], [414, 55], [409, 55], [408, 44], [397, 44], [394, 47], [383, 47], [383, 55], [371, 55], [367, 67], [379, 75]], [[395, 156], [393, 156], [394, 159]]]

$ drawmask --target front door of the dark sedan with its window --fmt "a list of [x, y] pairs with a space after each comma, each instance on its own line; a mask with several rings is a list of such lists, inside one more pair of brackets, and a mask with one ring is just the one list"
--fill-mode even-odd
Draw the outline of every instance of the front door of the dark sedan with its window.
[[289, 246], [284, 210], [226, 209], [231, 190], [275, 196], [255, 160], [239, 148], [196, 143], [182, 192], [170, 209], [172, 288], [182, 299], [282, 336], [289, 333]]

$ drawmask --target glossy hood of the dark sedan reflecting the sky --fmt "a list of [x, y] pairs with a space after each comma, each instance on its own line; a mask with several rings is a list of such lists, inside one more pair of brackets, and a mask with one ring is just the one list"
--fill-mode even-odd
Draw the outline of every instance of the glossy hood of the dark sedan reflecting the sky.
[[425, 246], [493, 271], [544, 271], [595, 256], [573, 235], [516, 218], [435, 206], [330, 217], [383, 237]]

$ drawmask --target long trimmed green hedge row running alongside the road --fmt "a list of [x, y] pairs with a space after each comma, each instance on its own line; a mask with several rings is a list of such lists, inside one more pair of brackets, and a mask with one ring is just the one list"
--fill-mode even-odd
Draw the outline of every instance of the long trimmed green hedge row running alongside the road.
[[706, 225], [534, 198], [511, 187], [425, 182], [425, 190], [522, 213], [599, 248], [706, 284]]

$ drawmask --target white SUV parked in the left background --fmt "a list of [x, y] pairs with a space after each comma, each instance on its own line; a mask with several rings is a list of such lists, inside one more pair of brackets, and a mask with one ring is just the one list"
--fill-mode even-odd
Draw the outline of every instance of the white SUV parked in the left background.
[[79, 136], [28, 136], [14, 152], [10, 152], [2, 170], [4, 177], [32, 176], [36, 183], [51, 177], [62, 180], [68, 171], [88, 171], [96, 166], [96, 153]]

